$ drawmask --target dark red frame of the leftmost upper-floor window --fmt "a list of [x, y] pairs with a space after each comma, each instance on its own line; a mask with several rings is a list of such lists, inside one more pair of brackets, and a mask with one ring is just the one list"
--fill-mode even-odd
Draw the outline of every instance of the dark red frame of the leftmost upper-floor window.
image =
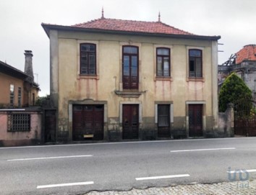
[[[83, 45], [93, 45], [95, 47], [94, 51], [82, 51], [82, 46]], [[88, 73], [82, 73], [82, 53], [86, 53], [87, 57], [88, 57]], [[90, 53], [94, 53], [94, 69], [95, 72], [94, 73], [90, 73]], [[97, 45], [95, 43], [92, 42], [80, 42], [80, 76], [97, 76]]]

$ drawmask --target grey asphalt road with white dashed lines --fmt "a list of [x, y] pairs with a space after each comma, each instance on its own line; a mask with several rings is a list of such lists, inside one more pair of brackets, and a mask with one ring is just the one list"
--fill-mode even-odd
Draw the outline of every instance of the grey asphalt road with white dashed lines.
[[0, 194], [83, 194], [234, 176], [256, 178], [256, 137], [0, 148]]

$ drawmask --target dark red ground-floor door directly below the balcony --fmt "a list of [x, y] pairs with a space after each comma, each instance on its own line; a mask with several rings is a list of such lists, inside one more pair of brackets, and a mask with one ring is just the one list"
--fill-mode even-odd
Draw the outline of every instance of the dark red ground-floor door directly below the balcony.
[[139, 105], [123, 104], [123, 140], [139, 137]]

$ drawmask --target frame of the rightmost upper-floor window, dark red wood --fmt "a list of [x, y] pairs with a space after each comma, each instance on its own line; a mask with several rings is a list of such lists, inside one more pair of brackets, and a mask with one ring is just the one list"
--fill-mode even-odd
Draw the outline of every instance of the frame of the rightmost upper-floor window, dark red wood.
[[[197, 56], [192, 56], [190, 55], [190, 52], [194, 50], [194, 51], [199, 51], [200, 52], [200, 57], [197, 57]], [[194, 71], [190, 71], [190, 68], [191, 68], [191, 58], [194, 62]], [[200, 76], [197, 76], [197, 60], [200, 59]], [[194, 76], [192, 76], [191, 72], [194, 73]], [[203, 78], [203, 74], [202, 74], [202, 50], [200, 49], [197, 49], [197, 48], [191, 48], [188, 50], [188, 76], [189, 78]]]

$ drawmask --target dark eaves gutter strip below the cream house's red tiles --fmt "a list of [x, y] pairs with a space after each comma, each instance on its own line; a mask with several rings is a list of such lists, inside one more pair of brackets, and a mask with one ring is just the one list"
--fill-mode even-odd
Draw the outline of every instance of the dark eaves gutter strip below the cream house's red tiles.
[[92, 32], [92, 33], [106, 33], [106, 34], [116, 34], [116, 35], [142, 35], [142, 36], [153, 36], [153, 37], [170, 37], [170, 38], [180, 38], [180, 39], [196, 39], [196, 40], [219, 40], [221, 36], [202, 36], [202, 35], [174, 35], [174, 34], [164, 34], [164, 33], [152, 33], [152, 32], [129, 32], [129, 31], [119, 31], [119, 30], [99, 30], [99, 29], [88, 29], [82, 27], [69, 27], [54, 24], [41, 24], [43, 30], [45, 30], [47, 36], [49, 37], [50, 30], [63, 30], [63, 31], [74, 31], [74, 32]]

